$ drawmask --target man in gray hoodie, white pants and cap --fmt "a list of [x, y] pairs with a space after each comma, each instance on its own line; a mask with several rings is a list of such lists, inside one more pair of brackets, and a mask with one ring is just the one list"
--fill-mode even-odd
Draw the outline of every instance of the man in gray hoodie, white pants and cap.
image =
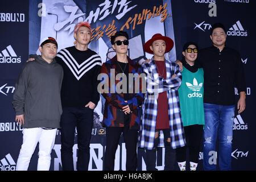
[[24, 65], [15, 86], [15, 121], [24, 128], [23, 143], [16, 164], [17, 171], [28, 169], [38, 142], [38, 170], [48, 171], [56, 132], [60, 128], [63, 68], [55, 60], [57, 42], [47, 37], [42, 39], [39, 45], [42, 56], [36, 56], [35, 61]]

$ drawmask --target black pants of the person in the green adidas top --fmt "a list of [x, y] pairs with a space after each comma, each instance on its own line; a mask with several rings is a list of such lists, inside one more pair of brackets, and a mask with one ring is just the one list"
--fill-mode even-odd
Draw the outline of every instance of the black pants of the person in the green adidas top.
[[184, 127], [187, 146], [176, 148], [177, 162], [186, 161], [187, 148], [189, 149], [189, 162], [198, 163], [201, 139], [203, 137], [203, 125], [191, 125]]

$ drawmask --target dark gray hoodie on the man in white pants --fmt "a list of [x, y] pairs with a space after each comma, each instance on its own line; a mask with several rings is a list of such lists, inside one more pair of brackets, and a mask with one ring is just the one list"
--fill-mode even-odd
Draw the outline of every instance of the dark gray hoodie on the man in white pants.
[[60, 128], [62, 80], [63, 68], [55, 59], [49, 64], [36, 56], [24, 65], [13, 97], [16, 115], [24, 114], [24, 128]]

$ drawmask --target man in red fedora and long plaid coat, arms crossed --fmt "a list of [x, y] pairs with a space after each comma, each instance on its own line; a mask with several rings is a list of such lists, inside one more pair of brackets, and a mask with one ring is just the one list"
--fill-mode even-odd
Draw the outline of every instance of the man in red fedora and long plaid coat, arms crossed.
[[[167, 36], [155, 34], [144, 44], [144, 51], [154, 56], [142, 65], [146, 73], [147, 92], [139, 131], [139, 147], [146, 150], [147, 170], [156, 170], [156, 149], [165, 147], [164, 170], [170, 170], [171, 150], [185, 146], [177, 89], [181, 84], [179, 66], [164, 59], [174, 42]], [[160, 133], [162, 131], [162, 134]]]

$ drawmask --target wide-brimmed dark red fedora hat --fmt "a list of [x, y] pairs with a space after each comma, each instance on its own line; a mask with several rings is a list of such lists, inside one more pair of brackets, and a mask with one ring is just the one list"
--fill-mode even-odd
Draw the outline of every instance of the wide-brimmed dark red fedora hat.
[[155, 34], [144, 44], [144, 51], [153, 54], [150, 46], [155, 40], [164, 40], [164, 42], [166, 42], [166, 52], [171, 51], [172, 47], [174, 47], [174, 41], [171, 38], [168, 38], [168, 36], [163, 36], [162, 34]]

